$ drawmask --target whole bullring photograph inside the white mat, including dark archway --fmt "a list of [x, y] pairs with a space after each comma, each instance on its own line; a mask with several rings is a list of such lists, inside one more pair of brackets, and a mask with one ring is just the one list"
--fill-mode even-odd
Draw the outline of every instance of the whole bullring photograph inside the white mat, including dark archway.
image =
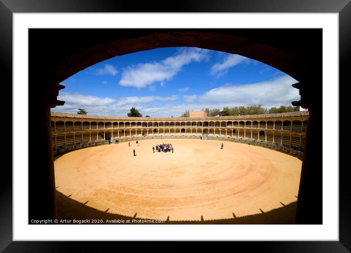
[[58, 93], [41, 124], [29, 91], [29, 170], [50, 170], [29, 177], [28, 224], [322, 224], [322, 29], [28, 37], [29, 82]]

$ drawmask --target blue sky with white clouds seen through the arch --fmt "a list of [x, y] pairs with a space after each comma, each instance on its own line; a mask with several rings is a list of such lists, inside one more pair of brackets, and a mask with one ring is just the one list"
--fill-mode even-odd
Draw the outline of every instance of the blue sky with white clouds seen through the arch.
[[262, 104], [266, 108], [300, 100], [297, 81], [261, 62], [199, 48], [160, 48], [116, 56], [61, 84], [51, 111], [126, 116], [132, 106], [143, 116], [179, 117], [185, 110]]

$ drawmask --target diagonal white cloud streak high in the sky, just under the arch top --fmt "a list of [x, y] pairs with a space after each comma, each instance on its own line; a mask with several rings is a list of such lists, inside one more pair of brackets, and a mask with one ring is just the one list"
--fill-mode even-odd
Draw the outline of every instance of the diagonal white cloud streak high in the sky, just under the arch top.
[[181, 67], [192, 61], [200, 62], [208, 57], [207, 50], [198, 48], [181, 49], [176, 55], [166, 58], [161, 62], [143, 63], [123, 69], [119, 82], [122, 86], [144, 88], [153, 82], [171, 79]]

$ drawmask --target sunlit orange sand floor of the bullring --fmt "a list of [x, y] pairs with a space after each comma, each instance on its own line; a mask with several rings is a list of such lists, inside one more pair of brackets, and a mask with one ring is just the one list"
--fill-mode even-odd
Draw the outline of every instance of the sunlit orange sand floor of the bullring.
[[[160, 143], [175, 152], [152, 153]], [[221, 143], [153, 139], [70, 152], [54, 162], [56, 187], [101, 211], [173, 221], [239, 217], [297, 200], [298, 158], [235, 142], [221, 150]]]

